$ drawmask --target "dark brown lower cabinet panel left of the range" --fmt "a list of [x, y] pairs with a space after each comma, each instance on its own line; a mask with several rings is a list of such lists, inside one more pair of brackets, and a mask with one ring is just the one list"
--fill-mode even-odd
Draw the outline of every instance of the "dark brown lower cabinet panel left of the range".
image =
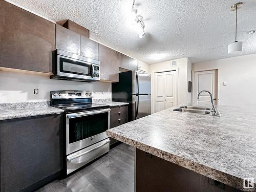
[[32, 191], [60, 176], [62, 115], [0, 121], [0, 191]]

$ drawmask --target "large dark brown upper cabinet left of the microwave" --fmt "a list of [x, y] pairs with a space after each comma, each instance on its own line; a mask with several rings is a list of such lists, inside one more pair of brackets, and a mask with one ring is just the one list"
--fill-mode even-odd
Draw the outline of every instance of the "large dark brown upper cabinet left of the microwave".
[[55, 24], [0, 1], [0, 67], [52, 73]]

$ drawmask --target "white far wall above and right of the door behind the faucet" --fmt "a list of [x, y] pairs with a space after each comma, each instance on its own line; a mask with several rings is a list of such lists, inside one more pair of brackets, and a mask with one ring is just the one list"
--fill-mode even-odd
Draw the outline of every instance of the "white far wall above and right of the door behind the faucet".
[[219, 69], [219, 105], [256, 105], [256, 54], [192, 65], [193, 71], [207, 69]]

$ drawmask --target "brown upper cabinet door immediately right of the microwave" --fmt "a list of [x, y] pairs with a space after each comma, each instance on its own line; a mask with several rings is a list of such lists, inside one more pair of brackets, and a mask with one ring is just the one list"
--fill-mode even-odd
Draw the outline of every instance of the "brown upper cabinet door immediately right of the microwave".
[[100, 80], [118, 82], [118, 52], [99, 44]]

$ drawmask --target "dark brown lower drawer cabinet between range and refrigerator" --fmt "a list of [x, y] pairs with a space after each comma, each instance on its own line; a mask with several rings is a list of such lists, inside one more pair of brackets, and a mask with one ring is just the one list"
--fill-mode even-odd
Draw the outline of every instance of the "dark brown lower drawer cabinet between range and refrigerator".
[[[128, 122], [128, 106], [114, 106], [110, 111], [110, 129]], [[110, 138], [110, 148], [118, 145], [116, 139]]]

